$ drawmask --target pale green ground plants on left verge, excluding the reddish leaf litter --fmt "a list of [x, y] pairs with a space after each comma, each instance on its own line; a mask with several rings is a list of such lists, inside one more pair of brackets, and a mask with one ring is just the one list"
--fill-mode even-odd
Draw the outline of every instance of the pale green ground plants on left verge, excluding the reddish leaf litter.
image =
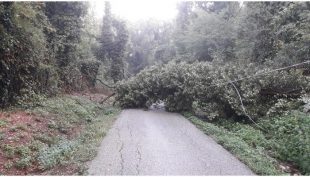
[[[32, 150], [34, 160], [31, 163], [39, 163], [41, 170], [53, 170], [55, 165], [66, 165], [67, 163], [78, 164], [80, 168], [85, 168], [80, 163], [95, 157], [97, 147], [120, 111], [119, 108], [111, 105], [99, 104], [88, 98], [71, 96], [46, 99], [41, 104], [40, 107], [31, 108], [31, 112], [42, 116], [40, 118], [42, 122], [45, 121], [43, 116], [53, 117], [53, 119], [47, 120], [50, 129], [44, 133], [35, 131], [34, 139], [31, 140], [28, 147], [18, 147], [21, 149], [19, 150], [21, 153], [27, 152], [25, 149]], [[74, 126], [81, 127], [82, 131], [71, 134]], [[60, 137], [58, 133], [50, 133], [55, 131], [63, 133], [63, 136]], [[70, 140], [67, 134], [70, 134]], [[22, 159], [19, 159], [21, 167], [22, 164], [28, 163], [26, 158]], [[24, 168], [27, 166], [29, 165], [24, 165]]]

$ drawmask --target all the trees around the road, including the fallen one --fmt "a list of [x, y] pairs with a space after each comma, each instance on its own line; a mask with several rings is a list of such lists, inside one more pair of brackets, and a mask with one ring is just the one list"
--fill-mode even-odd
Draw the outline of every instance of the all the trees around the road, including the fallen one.
[[[309, 2], [182, 1], [176, 8], [173, 20], [133, 23], [111, 13], [109, 2], [102, 19], [89, 2], [0, 2], [0, 107], [105, 88], [122, 108], [160, 99], [168, 111], [211, 122], [310, 111]], [[278, 156], [309, 174], [309, 116], [300, 120], [287, 135], [295, 144]]]

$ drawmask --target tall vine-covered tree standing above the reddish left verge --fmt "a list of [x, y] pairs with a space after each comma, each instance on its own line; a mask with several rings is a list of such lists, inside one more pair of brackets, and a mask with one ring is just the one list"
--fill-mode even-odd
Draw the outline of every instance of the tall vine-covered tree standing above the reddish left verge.
[[57, 66], [61, 80], [69, 87], [75, 87], [73, 78], [79, 72], [77, 61], [81, 58], [79, 49], [87, 9], [87, 2], [46, 3], [46, 15], [55, 28], [55, 31], [47, 33], [49, 62]]

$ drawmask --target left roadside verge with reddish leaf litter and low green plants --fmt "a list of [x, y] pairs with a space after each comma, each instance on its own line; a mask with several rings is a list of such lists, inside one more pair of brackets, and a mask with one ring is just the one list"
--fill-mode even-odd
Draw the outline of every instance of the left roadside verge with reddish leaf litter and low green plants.
[[37, 104], [0, 112], [0, 174], [85, 174], [120, 109], [81, 95]]

